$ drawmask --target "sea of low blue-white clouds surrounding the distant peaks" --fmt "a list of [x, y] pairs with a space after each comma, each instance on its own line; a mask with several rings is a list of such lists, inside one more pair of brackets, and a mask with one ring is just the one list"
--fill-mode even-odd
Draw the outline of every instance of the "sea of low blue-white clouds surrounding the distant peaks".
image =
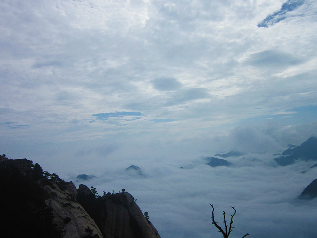
[[[309, 127], [314, 131], [312, 124]], [[232, 163], [230, 167], [206, 165], [206, 156], [224, 152], [217, 151], [214, 146], [211, 146], [213, 153], [199, 148], [201, 154], [198, 154], [194, 148], [173, 145], [172, 153], [173, 149], [166, 145], [157, 145], [156, 150], [147, 150], [144, 145], [142, 155], [141, 149], [138, 154], [130, 144], [129, 152], [134, 156], [122, 157], [118, 150], [108, 155], [98, 168], [96, 164], [78, 167], [78, 174], [94, 174], [94, 179], [76, 181], [78, 174], [74, 170], [67, 176], [76, 186], [81, 183], [94, 186], [100, 195], [103, 191], [112, 193], [126, 189], [137, 199], [142, 211], [149, 213], [162, 238], [222, 237], [212, 225], [210, 203], [214, 205], [219, 225], [223, 225], [222, 211], [226, 211], [227, 219], [230, 219], [233, 213], [230, 206], [236, 208], [232, 238], [240, 238], [246, 233], [255, 238], [315, 238], [317, 200], [297, 198], [317, 178], [317, 168], [308, 170], [315, 162], [281, 167], [273, 160], [278, 157], [273, 156], [274, 152], [281, 153], [287, 148], [286, 141], [300, 145], [308, 139], [303, 139], [304, 134], [303, 138], [300, 136], [305, 128], [284, 128], [285, 137], [281, 128], [235, 128], [225, 140], [214, 140], [214, 146], [227, 141], [233, 148], [234, 143], [228, 139], [231, 138], [236, 141], [234, 149], [246, 153], [226, 158]], [[233, 139], [239, 138], [238, 135], [240, 138], [245, 135], [240, 144]], [[139, 166], [142, 175], [126, 171], [130, 165]], [[307, 172], [301, 173], [304, 170]]]

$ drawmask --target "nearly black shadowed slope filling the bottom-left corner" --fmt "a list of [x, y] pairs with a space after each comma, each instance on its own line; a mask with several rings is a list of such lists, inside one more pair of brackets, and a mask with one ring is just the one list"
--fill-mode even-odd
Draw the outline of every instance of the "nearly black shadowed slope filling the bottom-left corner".
[[1, 237], [61, 238], [47, 192], [18, 168], [0, 169]]

